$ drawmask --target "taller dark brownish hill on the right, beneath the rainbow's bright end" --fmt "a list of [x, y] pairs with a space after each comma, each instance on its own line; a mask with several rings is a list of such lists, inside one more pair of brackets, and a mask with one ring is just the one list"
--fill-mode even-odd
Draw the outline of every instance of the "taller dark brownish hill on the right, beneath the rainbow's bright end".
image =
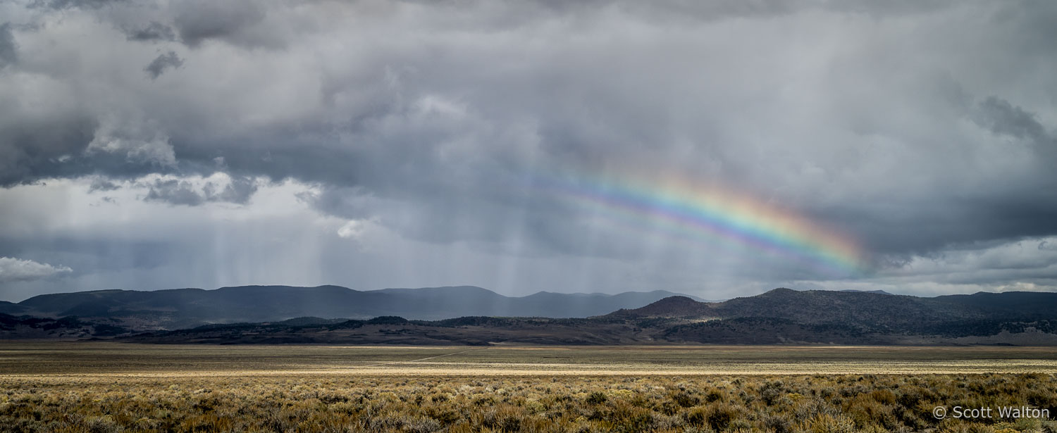
[[[1057, 324], [1057, 294], [1008, 291], [920, 298], [776, 288], [717, 303], [667, 298], [604, 318], [689, 321], [669, 328], [665, 338], [699, 342], [951, 339], [991, 336], [1003, 331], [1053, 333]], [[1057, 341], [1057, 335], [1054, 338]]]

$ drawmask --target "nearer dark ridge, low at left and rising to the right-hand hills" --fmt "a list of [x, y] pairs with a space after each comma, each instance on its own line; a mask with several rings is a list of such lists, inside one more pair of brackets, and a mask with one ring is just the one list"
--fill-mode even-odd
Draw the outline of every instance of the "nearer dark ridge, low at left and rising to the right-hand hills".
[[586, 319], [381, 317], [138, 334], [162, 343], [1057, 345], [1057, 294], [917, 298], [784, 288], [725, 302], [683, 296]]

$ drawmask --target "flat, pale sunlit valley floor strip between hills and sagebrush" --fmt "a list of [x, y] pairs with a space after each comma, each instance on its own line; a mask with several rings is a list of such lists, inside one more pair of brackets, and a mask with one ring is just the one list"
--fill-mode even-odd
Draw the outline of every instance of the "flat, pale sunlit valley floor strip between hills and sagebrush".
[[0, 341], [6, 377], [1057, 373], [1057, 347], [341, 346]]

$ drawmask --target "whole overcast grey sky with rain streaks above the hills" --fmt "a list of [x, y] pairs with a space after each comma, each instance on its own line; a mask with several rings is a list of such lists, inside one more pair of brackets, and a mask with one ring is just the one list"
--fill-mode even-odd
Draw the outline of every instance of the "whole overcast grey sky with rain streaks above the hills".
[[[1055, 22], [1049, 0], [0, 1], [0, 300], [1053, 290]], [[754, 205], [708, 232], [666, 216], [671, 178], [700, 192], [676, 205], [723, 191], [721, 220]], [[809, 229], [735, 224], [757, 220]], [[808, 253], [831, 238], [855, 266]]]

